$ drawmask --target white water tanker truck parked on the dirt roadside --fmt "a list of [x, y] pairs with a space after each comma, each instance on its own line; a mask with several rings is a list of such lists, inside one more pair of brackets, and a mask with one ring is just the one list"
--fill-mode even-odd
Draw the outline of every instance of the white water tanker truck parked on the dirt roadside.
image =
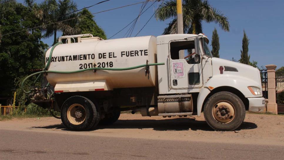
[[203, 111], [210, 127], [232, 131], [245, 110], [264, 109], [260, 72], [214, 58], [208, 42], [203, 34], [63, 36], [46, 52], [46, 67], [26, 77], [39, 74], [37, 80], [44, 76], [49, 84], [23, 91], [33, 103], [60, 111], [64, 126], [74, 131], [112, 124], [121, 111], [164, 118]]

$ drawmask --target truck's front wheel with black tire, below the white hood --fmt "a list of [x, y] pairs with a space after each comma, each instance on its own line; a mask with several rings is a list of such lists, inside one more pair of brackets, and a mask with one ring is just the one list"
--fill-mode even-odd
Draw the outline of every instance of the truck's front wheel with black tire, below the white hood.
[[[221, 105], [224, 103], [231, 106], [227, 107], [226, 105]], [[218, 104], [220, 104], [220, 106], [218, 106]], [[232, 111], [230, 112], [228, 108], [234, 109], [234, 116], [232, 116]], [[218, 110], [216, 111], [216, 109]], [[222, 113], [220, 113], [220, 111]], [[204, 105], [203, 112], [207, 124], [216, 131], [233, 131], [237, 129], [245, 119], [245, 105], [243, 101], [237, 95], [226, 91], [213, 94]], [[222, 118], [224, 118], [224, 120]]]

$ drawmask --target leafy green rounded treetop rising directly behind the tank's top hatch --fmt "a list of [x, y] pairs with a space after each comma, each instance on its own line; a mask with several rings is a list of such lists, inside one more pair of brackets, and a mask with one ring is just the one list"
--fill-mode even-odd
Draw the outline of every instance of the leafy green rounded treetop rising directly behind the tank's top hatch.
[[106, 39], [106, 34], [101, 29], [96, 22], [94, 21], [94, 16], [91, 14], [88, 9], [83, 9], [79, 16], [82, 17], [80, 23], [78, 24], [78, 28], [81, 29], [81, 34], [92, 34], [95, 37], [101, 37], [102, 39]]

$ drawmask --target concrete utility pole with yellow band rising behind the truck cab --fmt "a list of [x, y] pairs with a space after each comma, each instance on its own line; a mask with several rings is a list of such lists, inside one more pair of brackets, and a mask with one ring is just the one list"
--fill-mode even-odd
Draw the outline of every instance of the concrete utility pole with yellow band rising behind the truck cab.
[[[182, 0], [176, 0], [176, 12], [178, 21], [178, 34], [183, 34], [183, 6]], [[179, 59], [184, 59], [184, 51], [180, 50]]]

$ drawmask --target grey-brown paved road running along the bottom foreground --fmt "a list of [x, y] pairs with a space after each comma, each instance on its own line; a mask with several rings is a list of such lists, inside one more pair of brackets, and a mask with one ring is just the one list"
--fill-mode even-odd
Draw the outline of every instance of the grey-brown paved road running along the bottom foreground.
[[284, 146], [0, 129], [0, 159], [284, 159]]

